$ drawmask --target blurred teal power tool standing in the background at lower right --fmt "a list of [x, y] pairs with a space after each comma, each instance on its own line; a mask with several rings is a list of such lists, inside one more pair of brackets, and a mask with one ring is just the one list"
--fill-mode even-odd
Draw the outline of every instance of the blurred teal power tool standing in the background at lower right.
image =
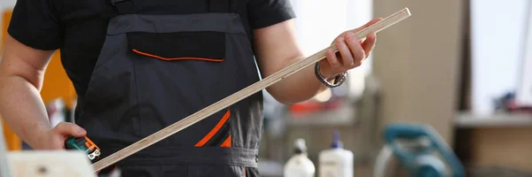
[[463, 177], [464, 166], [434, 128], [415, 123], [395, 123], [385, 129], [386, 144], [375, 164], [375, 177], [384, 177], [387, 161], [399, 165], [414, 177]]

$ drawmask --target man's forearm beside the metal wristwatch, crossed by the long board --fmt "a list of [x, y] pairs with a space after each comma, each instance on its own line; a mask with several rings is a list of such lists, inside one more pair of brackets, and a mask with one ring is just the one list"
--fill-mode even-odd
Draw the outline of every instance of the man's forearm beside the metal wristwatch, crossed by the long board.
[[[303, 57], [286, 60], [285, 68], [293, 63], [305, 59]], [[280, 70], [280, 69], [279, 69]], [[310, 65], [298, 73], [293, 73], [286, 79], [270, 86], [268, 91], [282, 104], [296, 104], [309, 100], [327, 89], [320, 81], [317, 80], [314, 72], [314, 65]]]

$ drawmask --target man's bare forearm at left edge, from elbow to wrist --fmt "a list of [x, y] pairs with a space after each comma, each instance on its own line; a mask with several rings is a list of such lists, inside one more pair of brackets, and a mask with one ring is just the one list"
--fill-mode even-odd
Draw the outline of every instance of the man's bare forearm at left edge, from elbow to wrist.
[[0, 114], [15, 134], [32, 147], [50, 130], [46, 109], [33, 84], [20, 76], [0, 75]]

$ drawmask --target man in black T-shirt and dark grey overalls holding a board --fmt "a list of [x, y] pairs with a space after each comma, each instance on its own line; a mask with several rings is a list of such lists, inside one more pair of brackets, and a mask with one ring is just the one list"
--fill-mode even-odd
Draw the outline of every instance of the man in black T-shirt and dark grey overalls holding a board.
[[[106, 157], [259, 81], [254, 58], [262, 77], [305, 58], [293, 18], [288, 0], [18, 0], [0, 64], [0, 113], [37, 150], [87, 135]], [[267, 90], [294, 104], [338, 86], [376, 41], [354, 32], [334, 41], [340, 52]], [[57, 49], [79, 97], [76, 124], [51, 127], [39, 89]], [[259, 92], [110, 169], [258, 176], [261, 127]]]

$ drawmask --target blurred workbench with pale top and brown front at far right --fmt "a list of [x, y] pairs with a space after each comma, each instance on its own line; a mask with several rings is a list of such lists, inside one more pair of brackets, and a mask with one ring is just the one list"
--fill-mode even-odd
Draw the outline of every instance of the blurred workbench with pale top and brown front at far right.
[[532, 115], [460, 112], [455, 125], [455, 150], [470, 169], [532, 174]]

